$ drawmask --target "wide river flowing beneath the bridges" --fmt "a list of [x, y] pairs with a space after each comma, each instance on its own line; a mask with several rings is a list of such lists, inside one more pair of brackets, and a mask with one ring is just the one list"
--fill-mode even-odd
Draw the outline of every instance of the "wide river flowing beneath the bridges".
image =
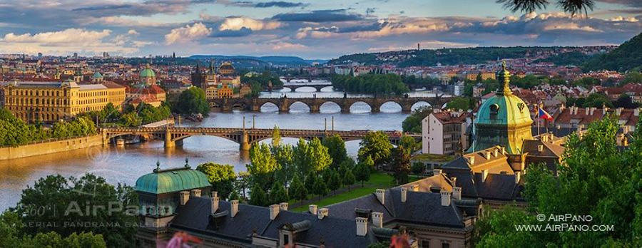
[[[324, 88], [322, 92], [312, 92], [313, 88], [298, 88], [296, 92], [284, 89], [282, 92], [263, 93], [262, 97], [279, 97], [287, 93], [288, 98], [311, 97], [342, 97], [343, 93]], [[411, 96], [429, 95], [429, 93], [413, 92]], [[348, 95], [348, 97], [360, 95]], [[417, 103], [417, 108], [422, 103]], [[395, 103], [386, 103], [381, 113], [370, 113], [370, 107], [365, 103], [355, 103], [350, 108], [351, 113], [340, 113], [338, 105], [326, 103], [321, 107], [321, 113], [309, 113], [309, 108], [303, 103], [294, 103], [290, 113], [278, 113], [275, 105], [264, 105], [260, 113], [239, 112], [211, 113], [202, 123], [182, 123], [185, 126], [238, 128], [243, 125], [252, 127], [253, 118], [256, 128], [323, 129], [327, 119], [328, 129], [334, 117], [335, 130], [401, 130], [401, 124], [408, 113], [402, 113], [401, 107]], [[294, 144], [297, 140], [283, 138], [283, 143]], [[270, 142], [264, 140], [263, 142]], [[357, 154], [359, 141], [346, 143], [347, 151], [353, 157]], [[156, 162], [161, 168], [185, 165], [185, 158], [195, 168], [203, 162], [218, 162], [235, 167], [237, 172], [245, 170], [247, 157], [240, 155], [237, 143], [218, 137], [194, 136], [186, 138], [183, 146], [165, 150], [162, 141], [151, 141], [126, 148], [94, 147], [73, 150], [67, 153], [56, 153], [36, 157], [26, 157], [17, 160], [0, 161], [0, 212], [14, 207], [20, 199], [22, 190], [27, 185], [47, 175], [60, 174], [65, 177], [91, 172], [105, 177], [112, 184], [118, 182], [134, 185], [141, 175], [152, 172]]]

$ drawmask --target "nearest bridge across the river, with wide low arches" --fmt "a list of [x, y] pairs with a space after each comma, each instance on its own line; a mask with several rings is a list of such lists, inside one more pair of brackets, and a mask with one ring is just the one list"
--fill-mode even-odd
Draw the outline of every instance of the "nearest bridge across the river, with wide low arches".
[[[145, 135], [149, 138], [165, 141], [165, 148], [173, 148], [176, 145], [183, 145], [183, 140], [195, 135], [209, 135], [232, 140], [240, 145], [240, 150], [250, 150], [254, 143], [272, 138], [274, 130], [270, 128], [183, 128], [183, 127], [158, 127], [158, 128], [103, 128], [103, 145], [108, 145], [111, 140], [123, 135]], [[369, 130], [301, 130], [301, 129], [280, 129], [281, 137], [287, 138], [324, 138], [329, 135], [340, 135], [345, 141], [361, 140]], [[399, 131], [384, 131], [393, 144], [398, 144], [403, 133]], [[421, 139], [421, 135], [412, 135], [415, 140]]]

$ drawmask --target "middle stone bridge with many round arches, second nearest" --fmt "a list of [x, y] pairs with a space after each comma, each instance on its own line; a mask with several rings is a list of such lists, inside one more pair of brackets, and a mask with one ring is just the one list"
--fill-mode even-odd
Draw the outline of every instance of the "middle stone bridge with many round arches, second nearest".
[[401, 105], [402, 111], [412, 111], [412, 106], [416, 103], [428, 103], [432, 106], [441, 107], [452, 97], [437, 95], [433, 97], [375, 97], [375, 98], [216, 98], [210, 100], [210, 107], [218, 108], [223, 112], [230, 112], [234, 108], [240, 108], [249, 111], [260, 111], [261, 107], [267, 103], [272, 103], [279, 108], [279, 112], [289, 112], [293, 103], [303, 103], [310, 108], [310, 112], [319, 112], [321, 105], [324, 103], [336, 103], [341, 108], [341, 113], [350, 113], [350, 106], [355, 103], [366, 103], [370, 106], [373, 113], [378, 113], [384, 103], [397, 103]]

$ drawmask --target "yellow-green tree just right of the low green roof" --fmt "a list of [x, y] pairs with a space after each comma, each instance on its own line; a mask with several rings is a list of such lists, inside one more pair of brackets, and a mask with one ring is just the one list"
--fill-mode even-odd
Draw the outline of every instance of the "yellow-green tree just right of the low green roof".
[[232, 165], [219, 165], [213, 162], [206, 162], [196, 167], [196, 170], [208, 175], [213, 190], [218, 192], [222, 199], [227, 199], [234, 191], [236, 173]]

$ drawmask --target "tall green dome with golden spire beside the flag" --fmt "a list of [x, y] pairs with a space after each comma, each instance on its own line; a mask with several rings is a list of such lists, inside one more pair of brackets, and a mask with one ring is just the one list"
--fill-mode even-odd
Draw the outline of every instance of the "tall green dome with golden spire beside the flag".
[[504, 62], [501, 71], [496, 74], [497, 80], [504, 83], [504, 87], [499, 88], [496, 95], [479, 107], [469, 153], [500, 145], [506, 148], [507, 153], [519, 154], [524, 140], [533, 139], [533, 120], [529, 107], [524, 100], [513, 95], [509, 88], [510, 77]]

